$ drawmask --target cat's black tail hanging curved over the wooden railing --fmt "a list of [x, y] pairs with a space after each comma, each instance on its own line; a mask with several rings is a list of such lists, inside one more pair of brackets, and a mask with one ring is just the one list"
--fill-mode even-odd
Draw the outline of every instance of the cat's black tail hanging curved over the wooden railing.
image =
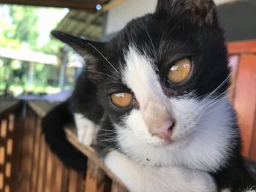
[[64, 125], [68, 123], [74, 123], [74, 121], [72, 112], [69, 110], [69, 101], [65, 101], [53, 108], [42, 119], [45, 141], [48, 142], [50, 150], [56, 153], [66, 166], [83, 172], [86, 170], [86, 156], [67, 141]]

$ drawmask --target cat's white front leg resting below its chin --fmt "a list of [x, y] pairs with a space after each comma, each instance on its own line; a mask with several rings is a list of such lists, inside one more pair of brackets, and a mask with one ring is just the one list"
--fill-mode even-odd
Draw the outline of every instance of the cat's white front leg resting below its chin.
[[206, 172], [176, 167], [143, 166], [117, 151], [105, 164], [132, 192], [216, 192], [214, 179]]

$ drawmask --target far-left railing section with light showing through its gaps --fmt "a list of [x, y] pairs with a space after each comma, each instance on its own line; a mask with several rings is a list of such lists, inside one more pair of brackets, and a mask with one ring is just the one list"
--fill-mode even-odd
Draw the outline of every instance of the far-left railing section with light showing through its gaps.
[[22, 124], [21, 103], [0, 101], [0, 191], [18, 190]]

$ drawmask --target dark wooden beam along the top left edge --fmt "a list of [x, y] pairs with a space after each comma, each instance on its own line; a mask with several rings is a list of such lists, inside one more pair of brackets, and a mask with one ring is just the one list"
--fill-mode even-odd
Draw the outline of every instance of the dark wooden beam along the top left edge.
[[96, 11], [96, 4], [103, 4], [104, 0], [88, 1], [88, 0], [0, 0], [0, 4], [19, 4], [29, 6], [40, 6], [40, 7], [65, 7], [71, 9], [87, 9]]

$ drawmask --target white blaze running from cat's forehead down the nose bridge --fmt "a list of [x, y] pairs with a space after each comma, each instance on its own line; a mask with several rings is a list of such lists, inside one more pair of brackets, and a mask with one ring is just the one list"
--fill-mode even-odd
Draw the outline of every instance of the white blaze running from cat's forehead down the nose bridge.
[[131, 46], [127, 53], [126, 63], [122, 72], [124, 83], [135, 93], [140, 104], [140, 118], [143, 118], [148, 130], [153, 131], [172, 122], [172, 107], [162, 91], [159, 77], [152, 64], [153, 61], [138, 54], [138, 51]]

